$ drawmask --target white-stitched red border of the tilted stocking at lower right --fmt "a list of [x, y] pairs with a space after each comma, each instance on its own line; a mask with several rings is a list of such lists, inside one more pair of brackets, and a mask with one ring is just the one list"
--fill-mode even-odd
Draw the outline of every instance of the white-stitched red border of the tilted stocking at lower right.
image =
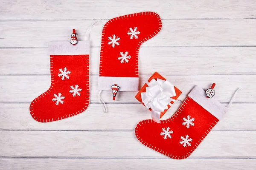
[[[178, 113], [181, 113], [183, 110], [181, 109], [181, 108], [183, 108], [184, 109], [184, 107], [186, 107], [186, 105], [184, 105], [184, 103], [186, 103], [186, 101], [189, 101], [189, 99], [192, 99], [192, 98], [190, 98], [189, 96], [187, 96], [187, 98], [185, 99], [185, 101], [182, 103], [182, 105], [180, 106], [180, 108], [178, 109], [178, 111], [174, 114], [174, 115], [172, 115], [169, 119], [166, 119], [166, 120], [160, 120], [160, 123], [167, 123], [167, 121], [168, 122], [170, 122], [170, 119], [171, 119], [171, 121], [173, 121], [179, 114]], [[192, 99], [193, 100], [193, 99]], [[183, 106], [183, 107], [182, 107]], [[181, 112], [180, 112], [181, 111]], [[177, 116], [176, 116], [177, 115]], [[147, 121], [147, 122], [146, 122]], [[140, 125], [140, 123], [143, 125], [143, 122], [144, 122], [144, 124], [147, 124], [147, 123], [152, 123], [152, 119], [147, 119], [147, 120], [143, 120], [143, 121], [140, 121], [137, 125]], [[153, 121], [153, 123], [157, 123], [157, 122], [154, 122]], [[144, 144], [146, 147], [149, 147], [149, 148], [151, 148], [151, 149], [153, 149], [153, 150], [155, 150], [155, 151], [157, 151], [157, 152], [159, 152], [159, 153], [161, 153], [161, 154], [163, 154], [163, 155], [165, 155], [165, 156], [168, 156], [169, 158], [172, 158], [172, 159], [185, 159], [185, 158], [187, 158], [187, 157], [189, 157], [190, 155], [191, 155], [191, 153], [193, 153], [194, 151], [195, 151], [195, 149], [198, 147], [198, 145], [204, 140], [204, 138], [208, 135], [208, 133], [212, 130], [212, 128], [215, 126], [217, 124], [217, 121], [215, 121], [215, 123], [212, 123], [212, 125], [210, 125], [210, 127], [209, 127], [209, 130], [207, 130], [206, 132], [205, 132], [205, 134], [203, 134], [203, 136], [202, 136], [202, 138], [200, 139], [200, 140], [198, 140], [198, 142], [196, 142], [195, 143], [195, 148], [193, 147], [193, 150], [190, 150], [189, 151], [189, 153], [187, 153], [185, 156], [176, 156], [176, 155], [172, 155], [172, 154], [170, 154], [170, 153], [168, 153], [168, 152], [165, 152], [165, 151], [163, 151], [163, 153], [161, 153], [162, 152], [162, 150], [160, 150], [160, 152], [159, 152], [159, 148], [157, 148], [157, 147], [154, 147], [153, 145], [149, 145], [148, 146], [148, 143], [146, 143], [146, 142], [144, 142], [142, 139], [140, 139], [140, 137], [139, 137], [139, 135], [137, 135], [137, 129], [139, 128], [138, 126], [136, 126], [135, 127], [135, 136], [136, 136], [136, 138], [140, 141], [140, 143], [142, 143], [142, 144]], [[141, 126], [141, 125], [140, 125]], [[143, 143], [144, 142], [144, 143]], [[154, 147], [154, 148], [153, 148]], [[167, 155], [168, 154], [168, 155]]]

